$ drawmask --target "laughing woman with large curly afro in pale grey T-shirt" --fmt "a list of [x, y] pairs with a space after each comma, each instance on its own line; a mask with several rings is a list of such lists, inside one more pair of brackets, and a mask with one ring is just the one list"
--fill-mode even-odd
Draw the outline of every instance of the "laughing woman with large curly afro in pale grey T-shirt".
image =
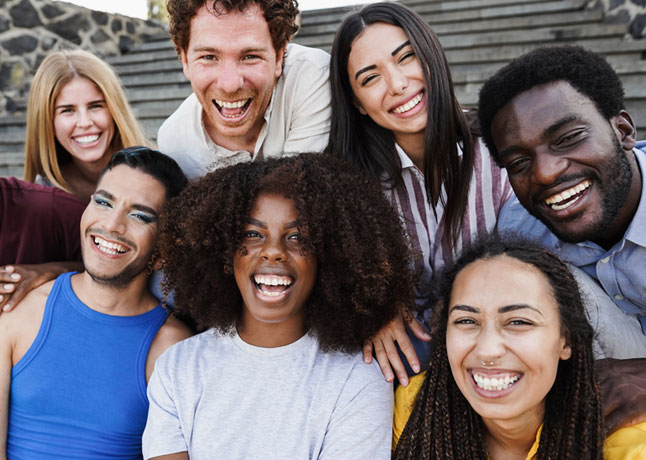
[[165, 290], [208, 329], [157, 361], [144, 457], [390, 458], [392, 385], [360, 351], [414, 295], [380, 184], [323, 154], [244, 163], [161, 225]]

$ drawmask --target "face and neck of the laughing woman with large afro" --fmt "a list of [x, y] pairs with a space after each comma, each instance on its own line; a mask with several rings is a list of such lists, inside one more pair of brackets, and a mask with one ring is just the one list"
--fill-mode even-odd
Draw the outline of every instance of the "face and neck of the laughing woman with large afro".
[[[292, 200], [258, 195], [243, 230], [243, 247], [233, 259], [244, 304], [240, 335], [253, 336], [252, 344], [278, 346], [305, 333], [305, 307], [316, 283], [317, 262], [304, 252], [298, 225]], [[271, 340], [277, 331], [284, 343]]]

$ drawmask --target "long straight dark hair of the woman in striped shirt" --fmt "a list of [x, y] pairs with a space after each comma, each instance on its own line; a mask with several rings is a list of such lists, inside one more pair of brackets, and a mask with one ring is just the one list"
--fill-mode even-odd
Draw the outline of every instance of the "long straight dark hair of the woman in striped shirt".
[[[391, 2], [369, 4], [350, 13], [339, 26], [330, 61], [332, 121], [326, 150], [342, 155], [376, 177], [385, 172], [393, 186], [404, 186], [393, 133], [359, 112], [348, 75], [348, 58], [354, 40], [367, 27], [377, 23], [400, 27], [422, 67], [428, 108], [424, 134], [424, 183], [429, 201], [439, 201], [444, 205], [448, 227], [445, 240], [452, 248], [460, 234], [469, 197], [475, 157], [474, 138], [455, 96], [451, 70], [442, 45], [424, 19], [410, 8]], [[442, 187], [446, 196], [441, 193]], [[431, 206], [431, 209], [435, 213], [435, 207]]]

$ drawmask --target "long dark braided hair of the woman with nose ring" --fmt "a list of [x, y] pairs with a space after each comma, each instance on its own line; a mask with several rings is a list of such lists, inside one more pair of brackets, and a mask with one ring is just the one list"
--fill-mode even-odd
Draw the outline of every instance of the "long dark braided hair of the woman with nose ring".
[[567, 266], [536, 243], [505, 235], [486, 237], [465, 250], [447, 268], [442, 299], [433, 316], [433, 346], [424, 383], [394, 454], [397, 460], [486, 460], [483, 423], [460, 392], [446, 352], [446, 328], [452, 286], [467, 265], [481, 259], [513, 257], [537, 268], [549, 282], [558, 305], [561, 327], [572, 356], [561, 360], [556, 380], [545, 398], [545, 414], [536, 458], [601, 460], [602, 414], [594, 373], [592, 339], [579, 288]]

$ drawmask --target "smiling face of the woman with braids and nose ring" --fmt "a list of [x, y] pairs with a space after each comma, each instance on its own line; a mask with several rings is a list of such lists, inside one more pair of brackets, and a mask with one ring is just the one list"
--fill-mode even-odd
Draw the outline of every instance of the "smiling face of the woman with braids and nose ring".
[[455, 382], [485, 423], [542, 420], [559, 360], [571, 354], [545, 276], [504, 255], [458, 273], [446, 351]]

